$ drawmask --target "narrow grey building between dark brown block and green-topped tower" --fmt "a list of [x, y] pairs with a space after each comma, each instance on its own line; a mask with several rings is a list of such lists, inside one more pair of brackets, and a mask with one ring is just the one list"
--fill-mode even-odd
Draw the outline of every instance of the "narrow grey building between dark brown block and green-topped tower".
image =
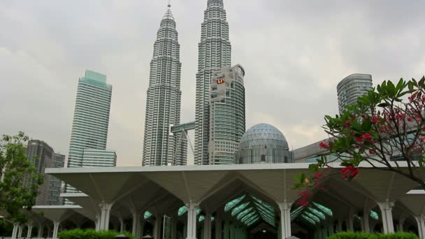
[[[65, 166], [65, 155], [54, 153], [51, 168], [64, 168], [64, 166]], [[49, 188], [48, 205], [63, 205], [64, 200], [63, 198], [60, 197], [60, 194], [62, 192], [62, 181], [51, 175], [49, 177], [50, 177], [50, 188]]]

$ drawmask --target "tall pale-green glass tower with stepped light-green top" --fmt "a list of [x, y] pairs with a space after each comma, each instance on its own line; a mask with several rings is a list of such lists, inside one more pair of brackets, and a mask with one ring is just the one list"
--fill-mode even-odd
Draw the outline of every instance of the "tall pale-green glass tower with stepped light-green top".
[[69, 144], [68, 167], [82, 167], [85, 149], [106, 150], [112, 85], [106, 75], [85, 71], [80, 78]]

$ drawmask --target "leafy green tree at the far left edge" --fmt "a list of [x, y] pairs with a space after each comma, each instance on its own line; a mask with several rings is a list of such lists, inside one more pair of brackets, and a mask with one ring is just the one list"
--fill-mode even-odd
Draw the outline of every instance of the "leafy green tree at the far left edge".
[[22, 132], [16, 136], [3, 135], [0, 140], [0, 210], [6, 211], [14, 222], [24, 222], [22, 209], [31, 210], [43, 183], [43, 175], [27, 159], [27, 140]]

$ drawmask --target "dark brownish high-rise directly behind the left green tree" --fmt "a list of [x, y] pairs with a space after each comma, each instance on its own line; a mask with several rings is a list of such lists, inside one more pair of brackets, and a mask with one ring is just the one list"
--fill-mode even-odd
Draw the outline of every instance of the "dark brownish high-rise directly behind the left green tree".
[[[47, 143], [41, 140], [29, 140], [27, 146], [28, 160], [32, 161], [38, 173], [43, 173], [45, 168], [52, 168], [53, 151]], [[27, 178], [27, 180], [31, 180]], [[29, 182], [29, 181], [28, 181]], [[50, 176], [45, 175], [43, 184], [38, 187], [36, 205], [48, 205], [49, 201]]]

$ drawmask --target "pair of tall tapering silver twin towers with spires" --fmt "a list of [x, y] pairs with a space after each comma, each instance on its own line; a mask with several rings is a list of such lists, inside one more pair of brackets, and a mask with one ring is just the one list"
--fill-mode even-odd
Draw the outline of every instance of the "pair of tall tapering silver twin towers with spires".
[[[180, 149], [178, 133], [171, 126], [180, 124], [180, 45], [170, 5], [154, 43], [147, 89], [143, 166], [185, 164], [186, 150]], [[208, 0], [201, 25], [196, 73], [195, 164], [208, 164], [210, 131], [210, 80], [212, 73], [231, 66], [229, 24], [222, 0]], [[185, 147], [185, 145], [183, 146]]]

